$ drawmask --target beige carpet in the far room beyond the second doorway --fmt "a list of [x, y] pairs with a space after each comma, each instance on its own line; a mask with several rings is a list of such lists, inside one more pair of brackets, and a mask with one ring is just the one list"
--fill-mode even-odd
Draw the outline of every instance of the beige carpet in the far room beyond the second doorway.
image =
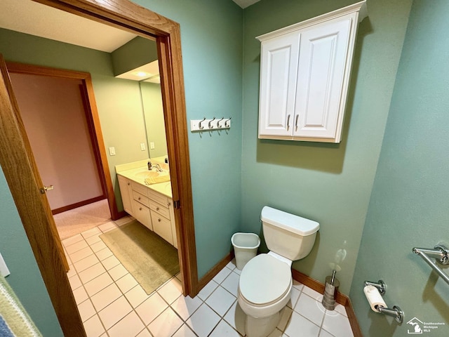
[[107, 199], [53, 216], [61, 240], [111, 221]]

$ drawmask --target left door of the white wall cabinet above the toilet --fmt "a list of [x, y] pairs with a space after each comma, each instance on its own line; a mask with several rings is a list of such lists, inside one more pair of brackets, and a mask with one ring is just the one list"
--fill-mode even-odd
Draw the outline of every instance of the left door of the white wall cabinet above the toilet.
[[300, 34], [262, 42], [259, 138], [292, 136]]

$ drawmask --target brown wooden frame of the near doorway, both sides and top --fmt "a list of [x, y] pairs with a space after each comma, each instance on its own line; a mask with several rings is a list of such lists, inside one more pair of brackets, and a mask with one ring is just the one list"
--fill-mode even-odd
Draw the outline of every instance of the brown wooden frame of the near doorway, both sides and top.
[[[125, 29], [142, 37], [156, 39], [173, 201], [179, 201], [177, 204], [180, 205], [175, 209], [175, 221], [183, 293], [185, 296], [196, 296], [199, 285], [180, 25], [128, 0], [32, 1]], [[8, 77], [7, 72], [3, 73], [3, 77]], [[15, 101], [11, 103], [8, 100], [13, 96], [12, 88], [6, 84], [6, 91], [0, 96], [2, 96], [0, 97], [0, 121], [8, 122], [8, 128], [0, 131], [2, 169], [18, 207], [20, 218], [62, 331], [66, 337], [85, 336], [72, 292], [67, 293], [70, 286], [64, 265], [58, 257], [57, 238], [51, 231], [48, 219], [41, 213], [42, 209], [45, 209], [39, 194], [41, 186], [34, 180], [34, 177], [18, 176], [18, 167], [36, 168], [29, 162], [29, 143], [26, 135], [20, 129], [22, 123], [20, 118], [18, 119], [17, 103]], [[12, 147], [11, 143], [20, 143], [20, 146]], [[24, 191], [24, 184], [28, 181], [29, 185]], [[30, 206], [33, 204], [36, 206]]]

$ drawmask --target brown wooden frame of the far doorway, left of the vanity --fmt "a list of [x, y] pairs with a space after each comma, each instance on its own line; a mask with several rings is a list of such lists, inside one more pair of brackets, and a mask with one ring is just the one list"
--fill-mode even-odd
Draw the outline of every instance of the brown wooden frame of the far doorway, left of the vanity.
[[[79, 79], [82, 81], [83, 93], [81, 94], [86, 95], [86, 98], [83, 97], [83, 101], [86, 100], [86, 102], [83, 103], [85, 103], [85, 109], [87, 110], [85, 115], [90, 133], [89, 143], [92, 145], [95, 163], [98, 169], [98, 176], [102, 185], [102, 199], [104, 199], [104, 195], [106, 194], [112, 220], [120, 218], [114, 195], [114, 187], [112, 186], [111, 173], [109, 172], [109, 165], [107, 164], [107, 154], [103, 143], [100, 117], [98, 117], [97, 105], [95, 103], [91, 74], [88, 72], [76, 72], [74, 70], [62, 70], [8, 61], [6, 62], [6, 67], [8, 68], [8, 72], [15, 74], [32, 74], [60, 79]], [[79, 203], [79, 206], [83, 206], [83, 204]], [[53, 212], [53, 214], [55, 213]]]

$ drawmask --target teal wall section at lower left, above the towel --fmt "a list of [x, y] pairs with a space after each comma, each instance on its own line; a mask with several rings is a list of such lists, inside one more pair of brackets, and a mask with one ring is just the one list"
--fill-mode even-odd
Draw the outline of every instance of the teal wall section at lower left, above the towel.
[[0, 200], [0, 253], [11, 272], [6, 281], [42, 335], [62, 337], [55, 310], [1, 168]]

